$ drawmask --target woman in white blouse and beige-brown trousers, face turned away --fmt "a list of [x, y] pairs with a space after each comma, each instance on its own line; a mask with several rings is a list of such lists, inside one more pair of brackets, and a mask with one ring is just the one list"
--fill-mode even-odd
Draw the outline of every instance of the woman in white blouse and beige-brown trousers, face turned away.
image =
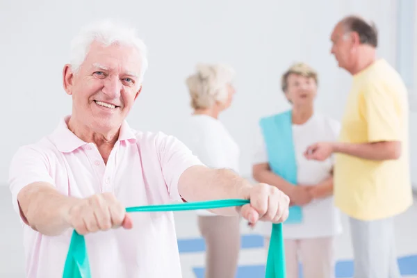
[[[239, 148], [218, 119], [235, 93], [234, 71], [227, 65], [197, 65], [186, 84], [193, 115], [181, 126], [179, 139], [208, 167], [238, 172]], [[234, 278], [240, 250], [238, 217], [197, 211], [199, 231], [206, 242], [206, 278]]]

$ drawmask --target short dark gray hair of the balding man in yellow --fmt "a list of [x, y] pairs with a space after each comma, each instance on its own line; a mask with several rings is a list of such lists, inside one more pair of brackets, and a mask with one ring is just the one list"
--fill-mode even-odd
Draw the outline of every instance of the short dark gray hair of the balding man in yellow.
[[368, 22], [362, 17], [350, 15], [341, 20], [345, 32], [356, 32], [359, 35], [361, 44], [368, 44], [372, 47], [378, 46], [377, 26], [373, 22]]

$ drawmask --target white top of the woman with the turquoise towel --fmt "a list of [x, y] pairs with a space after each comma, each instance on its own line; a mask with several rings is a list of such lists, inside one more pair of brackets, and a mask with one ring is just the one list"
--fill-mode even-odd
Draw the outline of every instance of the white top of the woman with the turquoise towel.
[[[320, 114], [314, 114], [304, 124], [293, 124], [293, 138], [295, 147], [295, 160], [297, 161], [297, 182], [303, 186], [314, 186], [327, 179], [334, 165], [334, 158], [326, 161], [308, 161], [303, 153], [306, 148], [320, 141], [337, 140], [341, 126], [335, 120]], [[254, 164], [267, 163], [268, 154], [265, 142], [258, 131]], [[341, 233], [341, 219], [338, 209], [333, 204], [333, 197], [325, 199], [313, 199], [312, 202], [302, 207], [303, 220], [301, 224], [284, 224], [284, 238], [316, 238], [320, 236], [334, 236]], [[270, 236], [272, 224], [261, 222], [255, 228], [265, 236]]]

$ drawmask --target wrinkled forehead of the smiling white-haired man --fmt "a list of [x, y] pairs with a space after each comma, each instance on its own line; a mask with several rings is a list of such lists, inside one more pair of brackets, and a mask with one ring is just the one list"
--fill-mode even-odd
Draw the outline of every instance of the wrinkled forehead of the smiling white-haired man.
[[93, 42], [83, 65], [86, 68], [140, 76], [142, 56], [134, 47], [120, 44], [106, 46]]

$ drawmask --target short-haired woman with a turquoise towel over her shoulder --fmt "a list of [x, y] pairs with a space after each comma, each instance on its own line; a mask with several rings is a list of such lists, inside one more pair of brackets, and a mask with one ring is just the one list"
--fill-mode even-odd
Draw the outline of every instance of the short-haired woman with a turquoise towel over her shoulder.
[[[341, 220], [333, 204], [332, 158], [309, 161], [305, 149], [314, 142], [333, 141], [340, 124], [314, 109], [318, 74], [305, 63], [292, 65], [281, 77], [281, 89], [292, 108], [263, 117], [259, 122], [253, 176], [277, 186], [291, 200], [284, 222], [286, 275], [305, 278], [334, 277], [334, 237], [341, 233]], [[265, 245], [271, 226], [261, 223]]]

